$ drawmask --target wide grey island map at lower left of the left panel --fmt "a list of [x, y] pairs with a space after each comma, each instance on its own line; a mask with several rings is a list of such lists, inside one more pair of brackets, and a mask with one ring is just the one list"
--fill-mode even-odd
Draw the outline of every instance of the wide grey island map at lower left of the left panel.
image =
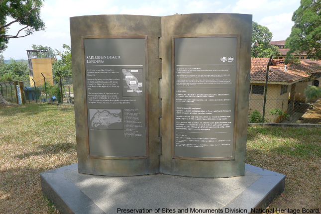
[[122, 109], [89, 109], [91, 129], [123, 129]]

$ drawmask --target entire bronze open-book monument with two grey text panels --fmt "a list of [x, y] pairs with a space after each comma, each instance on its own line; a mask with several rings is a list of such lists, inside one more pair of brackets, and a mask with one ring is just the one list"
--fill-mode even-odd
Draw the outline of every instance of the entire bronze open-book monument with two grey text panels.
[[78, 170], [244, 175], [252, 15], [70, 18]]

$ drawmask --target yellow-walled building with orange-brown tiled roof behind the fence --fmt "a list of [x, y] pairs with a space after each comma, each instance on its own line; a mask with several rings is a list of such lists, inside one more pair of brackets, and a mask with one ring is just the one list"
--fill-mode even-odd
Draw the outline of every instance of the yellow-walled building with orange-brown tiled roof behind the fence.
[[[267, 64], [269, 58], [251, 59], [249, 114], [254, 110], [263, 111]], [[308, 85], [319, 86], [321, 62], [301, 60], [301, 64], [285, 66], [283, 60], [272, 59], [269, 65], [266, 112], [280, 109], [291, 114], [295, 104], [305, 103], [303, 90]], [[296, 101], [296, 102], [295, 102]], [[268, 121], [278, 122], [278, 115], [268, 115]]]

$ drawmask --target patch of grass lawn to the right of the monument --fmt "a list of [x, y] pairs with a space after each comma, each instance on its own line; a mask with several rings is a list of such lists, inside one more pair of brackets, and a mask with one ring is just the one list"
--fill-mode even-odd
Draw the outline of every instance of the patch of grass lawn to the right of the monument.
[[246, 163], [287, 176], [270, 207], [321, 207], [321, 127], [248, 127]]

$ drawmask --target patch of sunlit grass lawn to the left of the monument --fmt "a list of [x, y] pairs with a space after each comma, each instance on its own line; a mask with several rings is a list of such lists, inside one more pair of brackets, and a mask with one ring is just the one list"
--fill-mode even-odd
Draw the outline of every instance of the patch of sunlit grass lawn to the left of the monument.
[[40, 172], [77, 162], [73, 107], [0, 106], [0, 214], [57, 214]]

